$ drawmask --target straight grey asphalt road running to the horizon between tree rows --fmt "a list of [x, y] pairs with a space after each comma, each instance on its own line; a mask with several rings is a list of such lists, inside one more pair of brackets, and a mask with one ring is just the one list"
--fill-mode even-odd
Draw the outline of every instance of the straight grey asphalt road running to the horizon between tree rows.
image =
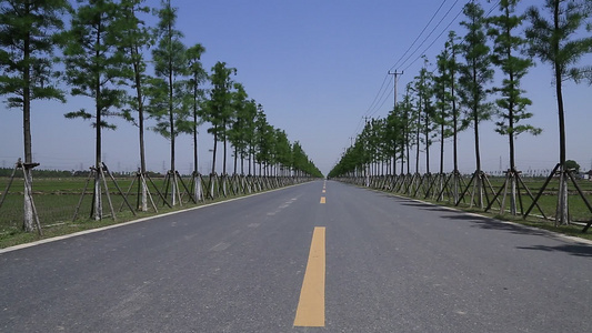
[[[322, 189], [1, 253], [0, 332], [592, 332], [592, 245]], [[294, 326], [317, 226], [324, 324]]]

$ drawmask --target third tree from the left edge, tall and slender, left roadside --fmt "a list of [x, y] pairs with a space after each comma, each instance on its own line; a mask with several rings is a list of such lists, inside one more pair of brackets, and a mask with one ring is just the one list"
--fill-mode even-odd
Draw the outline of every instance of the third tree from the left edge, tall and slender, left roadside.
[[[129, 109], [123, 110], [123, 118], [138, 127], [139, 145], [140, 145], [140, 178], [139, 186], [141, 189], [140, 210], [148, 210], [148, 186], [146, 183], [146, 148], [144, 148], [144, 111], [146, 111], [146, 90], [150, 81], [146, 73], [144, 50], [152, 43], [153, 38], [146, 23], [138, 18], [138, 13], [149, 12], [148, 7], [142, 6], [144, 0], [123, 0], [121, 1], [123, 10], [123, 22], [121, 28], [121, 47], [123, 48], [124, 61], [128, 62], [127, 71], [128, 84], [134, 90], [134, 95], [129, 95], [126, 104]], [[131, 70], [130, 70], [131, 69]], [[132, 114], [138, 113], [138, 119]]]

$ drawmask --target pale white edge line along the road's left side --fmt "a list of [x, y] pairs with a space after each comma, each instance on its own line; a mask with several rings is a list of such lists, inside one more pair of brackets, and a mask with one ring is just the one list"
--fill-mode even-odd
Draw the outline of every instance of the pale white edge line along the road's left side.
[[301, 183], [301, 184], [295, 184], [295, 185], [290, 185], [290, 186], [285, 186], [285, 188], [274, 189], [274, 190], [270, 190], [270, 191], [265, 191], [265, 192], [253, 193], [253, 194], [249, 194], [249, 195], [244, 195], [244, 196], [240, 196], [240, 198], [233, 198], [233, 199], [229, 199], [229, 200], [223, 200], [223, 201], [219, 201], [219, 202], [212, 202], [212, 203], [208, 203], [208, 204], [203, 204], [203, 205], [189, 208], [189, 209], [185, 209], [185, 210], [169, 212], [169, 213], [164, 213], [164, 214], [158, 214], [158, 215], [153, 215], [153, 216], [142, 218], [142, 219], [138, 219], [138, 220], [132, 220], [132, 221], [128, 221], [128, 222], [122, 222], [122, 223], [118, 223], [118, 224], [108, 225], [108, 226], [79, 231], [79, 232], [74, 232], [74, 233], [70, 233], [70, 234], [64, 234], [64, 235], [61, 235], [61, 236], [54, 236], [54, 238], [51, 238], [51, 239], [44, 239], [44, 240], [34, 241], [34, 242], [30, 242], [30, 243], [9, 246], [9, 248], [0, 249], [0, 254], [7, 253], [7, 252], [17, 251], [17, 250], [22, 250], [22, 249], [27, 249], [27, 248], [37, 246], [37, 245], [40, 245], [40, 244], [46, 244], [46, 243], [57, 242], [57, 241], [61, 241], [61, 240], [67, 240], [67, 239], [71, 239], [71, 238], [76, 238], [76, 236], [80, 236], [80, 235], [84, 235], [84, 234], [89, 234], [89, 233], [101, 232], [101, 231], [109, 230], [109, 229], [116, 229], [116, 228], [126, 226], [126, 225], [130, 225], [130, 224], [141, 223], [141, 222], [146, 222], [146, 221], [150, 221], [150, 220], [154, 220], [154, 219], [159, 219], [159, 218], [163, 218], [163, 216], [169, 216], [169, 215], [174, 215], [174, 214], [184, 213], [184, 212], [189, 212], [189, 211], [200, 210], [200, 209], [203, 209], [203, 208], [208, 208], [208, 206], [212, 206], [212, 205], [217, 205], [217, 204], [222, 204], [222, 203], [228, 203], [228, 202], [232, 202], [232, 201], [237, 201], [237, 200], [241, 200], [241, 199], [247, 199], [247, 198], [251, 198], [251, 196], [255, 196], [255, 195], [262, 195], [262, 194], [267, 194], [267, 193], [272, 193], [272, 192], [275, 192], [275, 191], [285, 190], [285, 189], [290, 189], [290, 188], [293, 188], [293, 186], [300, 186], [300, 185], [303, 185], [303, 184], [307, 184], [307, 183], [308, 182]]

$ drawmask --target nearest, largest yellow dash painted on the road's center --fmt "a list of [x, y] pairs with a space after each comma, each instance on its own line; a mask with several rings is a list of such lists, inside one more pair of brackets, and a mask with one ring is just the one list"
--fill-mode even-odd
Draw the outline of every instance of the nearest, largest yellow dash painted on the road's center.
[[294, 326], [324, 326], [324, 226], [314, 228]]

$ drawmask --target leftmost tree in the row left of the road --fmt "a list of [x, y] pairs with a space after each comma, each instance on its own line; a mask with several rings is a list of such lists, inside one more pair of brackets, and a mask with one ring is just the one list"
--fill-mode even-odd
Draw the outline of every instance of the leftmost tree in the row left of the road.
[[24, 216], [23, 230], [34, 229], [32, 188], [31, 101], [59, 100], [63, 92], [51, 84], [51, 56], [63, 29], [60, 16], [68, 9], [66, 0], [2, 1], [0, 4], [0, 94], [8, 95], [7, 105], [22, 110], [24, 143]]

